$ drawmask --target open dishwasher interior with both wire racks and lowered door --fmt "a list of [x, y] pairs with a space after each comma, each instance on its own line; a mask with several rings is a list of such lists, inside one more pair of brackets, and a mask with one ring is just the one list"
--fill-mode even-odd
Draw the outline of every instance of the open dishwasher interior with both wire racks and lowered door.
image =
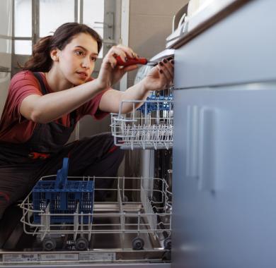
[[[150, 68], [141, 68], [137, 80]], [[127, 154], [125, 176], [113, 178], [111, 189], [94, 189], [110, 194], [105, 202], [93, 202], [93, 212], [53, 212], [49, 199], [41, 205], [42, 195], [35, 207], [33, 193], [6, 210], [0, 226], [0, 265], [171, 262], [172, 92], [167, 88], [130, 114], [112, 115], [115, 144]], [[54, 204], [57, 207], [57, 195]]]

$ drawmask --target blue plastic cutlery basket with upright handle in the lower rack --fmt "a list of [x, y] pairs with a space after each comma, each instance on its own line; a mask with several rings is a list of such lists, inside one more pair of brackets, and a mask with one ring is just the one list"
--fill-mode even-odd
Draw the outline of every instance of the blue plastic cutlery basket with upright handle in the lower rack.
[[[33, 188], [33, 209], [45, 211], [50, 204], [50, 223], [74, 223], [74, 212], [79, 203], [78, 213], [93, 212], [94, 182], [67, 181], [69, 159], [64, 158], [62, 169], [57, 171], [55, 181], [38, 181]], [[72, 214], [72, 215], [55, 215]], [[81, 221], [81, 217], [79, 217]], [[83, 217], [84, 224], [92, 221], [92, 216]], [[40, 224], [40, 214], [34, 213], [34, 223]]]

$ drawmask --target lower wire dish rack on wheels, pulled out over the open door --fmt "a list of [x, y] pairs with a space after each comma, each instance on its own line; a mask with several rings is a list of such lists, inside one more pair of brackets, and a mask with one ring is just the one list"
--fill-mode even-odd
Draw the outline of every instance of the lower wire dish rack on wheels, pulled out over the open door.
[[[53, 176], [41, 178], [52, 179]], [[168, 260], [172, 205], [166, 181], [161, 178], [68, 177], [68, 181], [93, 181], [95, 185], [98, 179], [113, 179], [115, 187], [94, 189], [95, 193], [97, 190], [106, 190], [110, 192], [110, 197], [106, 202], [94, 202], [93, 213], [79, 213], [76, 209], [74, 214], [53, 214], [49, 206], [44, 210], [35, 210], [31, 194], [28, 195], [21, 203], [21, 222], [25, 233], [36, 236], [38, 247], [44, 252], [112, 252], [112, 262], [117, 258], [128, 259], [132, 252], [132, 261], [151, 257], [157, 261], [163, 260], [164, 256]], [[40, 215], [39, 223], [33, 221], [34, 214]], [[66, 217], [67, 221], [54, 224], [51, 217]], [[71, 223], [69, 217], [73, 219]], [[112, 240], [116, 243], [113, 244]], [[101, 243], [103, 247], [98, 247]]]

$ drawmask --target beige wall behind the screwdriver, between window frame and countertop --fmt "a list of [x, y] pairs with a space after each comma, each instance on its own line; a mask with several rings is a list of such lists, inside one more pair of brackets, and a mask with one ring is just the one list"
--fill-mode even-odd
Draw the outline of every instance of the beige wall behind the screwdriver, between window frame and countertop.
[[[188, 0], [130, 0], [129, 46], [148, 59], [163, 51], [173, 16], [187, 3]], [[136, 73], [128, 75], [128, 86], [133, 85]]]

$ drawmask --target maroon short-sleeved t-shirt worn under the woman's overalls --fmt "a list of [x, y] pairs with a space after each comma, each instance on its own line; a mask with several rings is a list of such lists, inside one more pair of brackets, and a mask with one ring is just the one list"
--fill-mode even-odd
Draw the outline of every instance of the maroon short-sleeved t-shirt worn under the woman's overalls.
[[[54, 92], [47, 84], [44, 73], [41, 74], [47, 92]], [[100, 99], [105, 91], [100, 92], [96, 97], [76, 109], [76, 121], [86, 114], [90, 114], [96, 119], [101, 119], [108, 114], [98, 109]], [[8, 89], [8, 97], [0, 121], [0, 142], [23, 143], [29, 140], [33, 134], [37, 123], [20, 114], [21, 102], [28, 95], [42, 95], [40, 84], [32, 72], [21, 71], [13, 76]], [[66, 114], [54, 122], [69, 127], [70, 116]]]

